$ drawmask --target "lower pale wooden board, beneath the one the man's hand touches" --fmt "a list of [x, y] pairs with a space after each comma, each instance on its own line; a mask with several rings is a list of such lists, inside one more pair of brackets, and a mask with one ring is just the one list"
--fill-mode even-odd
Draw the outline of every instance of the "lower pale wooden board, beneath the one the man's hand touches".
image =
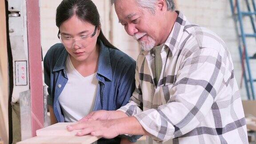
[[91, 144], [100, 138], [96, 136], [36, 136], [17, 144]]

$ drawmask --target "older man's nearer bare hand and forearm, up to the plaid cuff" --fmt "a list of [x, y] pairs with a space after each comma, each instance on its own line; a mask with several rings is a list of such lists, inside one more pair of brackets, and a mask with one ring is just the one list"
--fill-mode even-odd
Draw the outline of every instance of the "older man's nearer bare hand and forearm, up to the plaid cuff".
[[[123, 112], [123, 114], [125, 114]], [[91, 134], [92, 136], [102, 136], [107, 139], [114, 138], [122, 134], [149, 135], [134, 117], [123, 117], [112, 120], [89, 120], [67, 126], [68, 131], [81, 130], [77, 136]]]

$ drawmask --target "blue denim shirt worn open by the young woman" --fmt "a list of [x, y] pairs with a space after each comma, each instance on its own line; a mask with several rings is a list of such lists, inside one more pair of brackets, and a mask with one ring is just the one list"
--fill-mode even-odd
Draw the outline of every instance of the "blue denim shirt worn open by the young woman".
[[[116, 110], [128, 103], [135, 89], [136, 62], [124, 52], [106, 47], [100, 40], [98, 44], [100, 53], [96, 79], [99, 83], [93, 111]], [[55, 44], [44, 57], [44, 82], [48, 86], [48, 105], [53, 107], [58, 122], [64, 122], [58, 98], [68, 81], [65, 68], [67, 56], [64, 45]]]

